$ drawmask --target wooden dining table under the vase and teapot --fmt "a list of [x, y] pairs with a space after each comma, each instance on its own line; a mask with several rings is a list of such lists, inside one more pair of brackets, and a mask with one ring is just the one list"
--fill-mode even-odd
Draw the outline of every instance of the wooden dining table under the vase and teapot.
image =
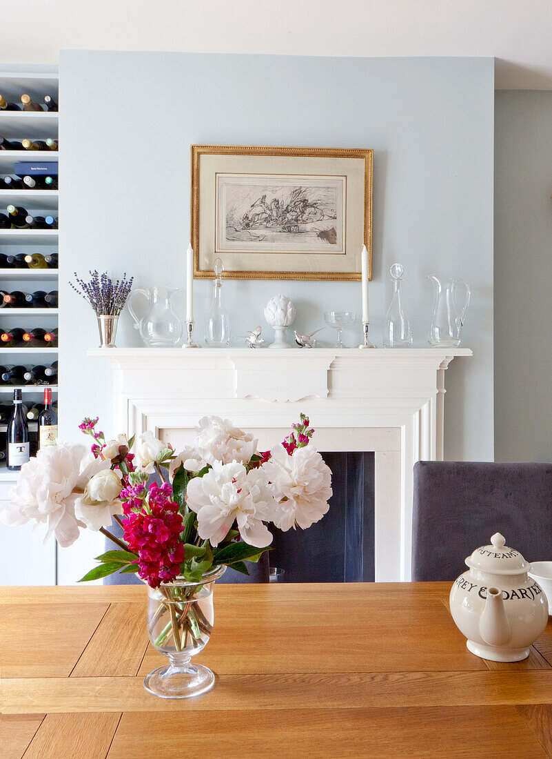
[[552, 756], [552, 625], [527, 660], [475, 657], [449, 583], [220, 585], [197, 698], [143, 688], [166, 660], [146, 588], [0, 589], [3, 759]]

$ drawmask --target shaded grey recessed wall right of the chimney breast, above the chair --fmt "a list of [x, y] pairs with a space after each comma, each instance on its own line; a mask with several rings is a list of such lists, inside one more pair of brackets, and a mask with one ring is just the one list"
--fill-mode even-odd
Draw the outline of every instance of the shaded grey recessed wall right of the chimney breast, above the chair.
[[497, 461], [552, 461], [552, 93], [496, 99]]

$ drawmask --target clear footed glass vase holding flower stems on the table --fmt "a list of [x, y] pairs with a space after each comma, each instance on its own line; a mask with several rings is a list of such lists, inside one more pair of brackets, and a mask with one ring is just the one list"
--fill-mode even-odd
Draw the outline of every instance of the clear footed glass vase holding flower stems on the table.
[[152, 646], [168, 657], [144, 679], [146, 691], [159, 698], [190, 698], [210, 691], [215, 675], [191, 657], [203, 650], [214, 621], [213, 588], [225, 566], [204, 575], [201, 582], [177, 578], [159, 587], [148, 586], [148, 635]]

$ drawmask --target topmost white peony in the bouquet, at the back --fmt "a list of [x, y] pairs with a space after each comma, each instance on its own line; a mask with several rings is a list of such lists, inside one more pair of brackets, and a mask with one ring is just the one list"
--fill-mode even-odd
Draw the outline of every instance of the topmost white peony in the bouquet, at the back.
[[196, 449], [210, 465], [215, 461], [248, 464], [256, 452], [257, 442], [251, 433], [233, 427], [231, 422], [220, 417], [203, 417], [196, 427]]

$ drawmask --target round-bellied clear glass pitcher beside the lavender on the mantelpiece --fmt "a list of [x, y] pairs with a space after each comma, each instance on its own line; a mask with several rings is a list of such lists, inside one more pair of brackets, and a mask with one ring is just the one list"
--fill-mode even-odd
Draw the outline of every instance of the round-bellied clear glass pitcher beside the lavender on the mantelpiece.
[[[182, 337], [182, 322], [172, 309], [172, 297], [178, 288], [150, 287], [133, 289], [128, 299], [128, 310], [134, 320], [134, 329], [149, 348], [171, 348]], [[132, 302], [136, 295], [143, 295], [148, 301], [146, 312], [140, 319], [133, 310]]]

